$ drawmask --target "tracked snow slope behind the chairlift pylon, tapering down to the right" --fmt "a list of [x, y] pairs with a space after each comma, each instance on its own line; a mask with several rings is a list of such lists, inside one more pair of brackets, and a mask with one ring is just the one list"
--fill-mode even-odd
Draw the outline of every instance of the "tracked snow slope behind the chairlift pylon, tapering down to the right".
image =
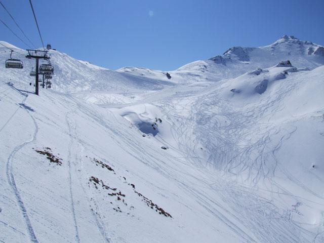
[[[9, 44], [2, 42], [5, 46]], [[26, 59], [26, 51], [11, 46], [16, 51], [13, 58], [24, 59], [24, 69], [16, 74], [16, 78], [24, 79], [27, 82], [33, 82], [34, 77], [29, 77], [28, 73], [35, 65], [34, 60]], [[7, 59], [10, 51], [5, 47], [0, 47], [1, 59]], [[51, 63], [54, 66], [55, 83], [53, 89], [64, 93], [76, 93], [81, 91], [116, 91], [116, 90], [158, 90], [164, 86], [172, 86], [168, 78], [165, 80], [156, 80], [148, 77], [135, 77], [127, 73], [119, 73], [113, 70], [95, 66], [89, 62], [79, 61], [69, 57], [65, 53], [50, 50]], [[46, 62], [47, 63], [47, 62]], [[40, 61], [42, 64], [42, 61]], [[3, 67], [2, 67], [3, 68]], [[12, 72], [9, 70], [9, 72]]]

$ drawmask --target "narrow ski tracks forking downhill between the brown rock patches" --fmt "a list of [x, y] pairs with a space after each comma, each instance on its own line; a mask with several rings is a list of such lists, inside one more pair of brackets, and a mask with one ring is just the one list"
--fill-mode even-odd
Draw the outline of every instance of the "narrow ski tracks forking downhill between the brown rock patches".
[[[82, 145], [83, 142], [79, 140], [78, 138], [78, 133], [76, 131], [76, 124], [75, 124], [75, 120], [72, 120], [69, 116], [70, 114], [73, 113], [73, 112], [67, 112], [66, 113], [66, 123], [68, 125], [68, 128], [69, 128], [69, 136], [70, 136], [70, 144], [69, 144], [69, 151], [68, 151], [68, 165], [69, 165], [69, 186], [70, 186], [70, 195], [71, 195], [71, 207], [72, 207], [72, 212], [73, 212], [73, 221], [74, 221], [74, 225], [75, 225], [75, 232], [76, 232], [76, 240], [77, 242], [80, 242], [80, 239], [79, 239], [79, 235], [78, 235], [78, 227], [77, 227], [77, 224], [76, 224], [76, 218], [75, 218], [75, 209], [74, 209], [74, 203], [73, 203], [73, 194], [72, 194], [72, 180], [71, 180], [71, 158], [72, 158], [72, 155], [71, 155], [71, 149], [72, 149], [72, 145], [73, 145], [73, 141], [76, 140], [77, 141], [77, 145], [81, 145], [82, 148], [80, 149], [80, 151], [83, 151], [84, 150], [84, 146]], [[80, 161], [80, 157], [78, 157], [77, 153], [75, 153], [75, 161], [76, 160], [79, 160]], [[74, 165], [74, 163], [73, 163]], [[76, 167], [74, 165], [74, 172], [75, 172], [75, 175], [77, 176], [77, 172], [76, 172]], [[88, 201], [88, 204], [89, 206], [91, 205], [91, 201], [89, 199], [89, 195], [85, 189], [85, 187], [83, 186], [83, 183], [82, 183], [82, 178], [80, 178], [79, 176], [77, 176], [78, 178], [78, 181], [79, 181], [79, 184], [80, 186], [82, 187], [82, 190], [84, 191], [86, 197], [87, 197], [87, 201]], [[96, 209], [97, 209], [97, 205], [95, 204], [96, 206]], [[94, 217], [94, 220], [96, 221], [96, 225], [97, 225], [97, 228], [103, 238], [103, 240], [107, 243], [110, 242], [106, 232], [105, 232], [105, 229], [103, 227], [103, 224], [100, 222], [101, 220], [98, 218], [98, 216], [96, 215], [96, 213], [94, 211], [91, 211], [91, 214], [92, 216]]]

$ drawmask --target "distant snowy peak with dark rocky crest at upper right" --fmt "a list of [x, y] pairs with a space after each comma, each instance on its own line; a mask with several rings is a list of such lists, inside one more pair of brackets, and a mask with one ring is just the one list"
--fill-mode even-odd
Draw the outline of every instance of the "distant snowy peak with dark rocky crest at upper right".
[[284, 35], [273, 44], [258, 48], [232, 47], [222, 56], [192, 62], [178, 71], [208, 72], [213, 80], [232, 78], [257, 68], [271, 67], [290, 60], [297, 68], [313, 69], [324, 64], [323, 47], [294, 36]]

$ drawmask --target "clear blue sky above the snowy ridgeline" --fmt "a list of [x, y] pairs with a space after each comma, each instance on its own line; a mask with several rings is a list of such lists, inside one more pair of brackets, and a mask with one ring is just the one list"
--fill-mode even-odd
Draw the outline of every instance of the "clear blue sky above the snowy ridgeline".
[[[40, 47], [28, 0], [1, 0]], [[45, 45], [99, 66], [173, 70], [284, 34], [324, 45], [323, 0], [33, 0]], [[0, 6], [0, 19], [24, 37]], [[0, 39], [27, 49], [2, 23]], [[27, 41], [26, 41], [27, 42]]]

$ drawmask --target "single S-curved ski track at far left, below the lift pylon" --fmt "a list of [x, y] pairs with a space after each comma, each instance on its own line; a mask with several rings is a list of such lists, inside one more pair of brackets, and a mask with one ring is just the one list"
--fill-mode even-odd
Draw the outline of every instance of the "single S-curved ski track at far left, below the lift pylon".
[[[25, 100], [26, 100], [26, 97], [24, 98], [23, 103], [24, 103]], [[36, 235], [34, 233], [33, 227], [32, 227], [32, 225], [30, 223], [30, 220], [29, 220], [29, 217], [28, 217], [27, 210], [25, 208], [24, 202], [23, 202], [23, 200], [22, 200], [22, 198], [20, 196], [20, 193], [18, 191], [16, 182], [15, 182], [15, 177], [14, 177], [13, 169], [12, 169], [12, 163], [13, 163], [13, 158], [14, 158], [15, 154], [20, 149], [22, 149], [24, 146], [26, 146], [27, 144], [33, 142], [36, 139], [36, 135], [37, 135], [37, 132], [38, 132], [38, 126], [37, 126], [37, 123], [36, 123], [34, 117], [29, 113], [29, 111], [26, 111], [26, 112], [29, 114], [29, 116], [33, 120], [33, 124], [34, 124], [35, 130], [34, 130], [34, 133], [33, 133], [32, 138], [30, 140], [27, 140], [27, 141], [23, 142], [22, 144], [18, 145], [10, 153], [10, 155], [8, 157], [8, 160], [7, 160], [6, 174], [7, 174], [8, 183], [9, 183], [10, 187], [12, 188], [12, 190], [13, 190], [15, 196], [16, 196], [17, 204], [18, 204], [18, 206], [19, 206], [19, 208], [21, 210], [21, 213], [22, 213], [24, 222], [26, 224], [27, 232], [28, 232], [28, 236], [29, 236], [29, 240], [32, 241], [32, 242], [38, 242], [38, 240], [36, 238]], [[15, 113], [16, 113], [16, 111], [15, 111]], [[8, 123], [8, 121], [7, 121], [7, 123]]]

